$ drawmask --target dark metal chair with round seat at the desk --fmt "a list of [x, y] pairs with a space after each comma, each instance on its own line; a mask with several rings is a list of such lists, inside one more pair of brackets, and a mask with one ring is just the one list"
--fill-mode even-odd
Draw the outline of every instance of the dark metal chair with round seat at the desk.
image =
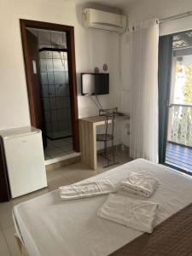
[[[104, 143], [104, 152], [99, 154], [103, 158], [108, 160], [108, 164], [107, 164], [107, 166], [103, 166], [104, 168], [118, 164], [114, 160], [114, 142], [113, 142], [114, 141], [114, 136], [113, 136], [114, 119], [115, 119], [116, 113], [117, 113], [117, 108], [100, 109], [100, 111], [99, 111], [99, 115], [105, 117], [105, 133], [96, 134], [96, 141]], [[109, 124], [111, 124], [111, 127]], [[112, 143], [113, 160], [110, 160], [108, 158], [108, 142]], [[109, 162], [112, 162], [112, 163], [109, 164]]]

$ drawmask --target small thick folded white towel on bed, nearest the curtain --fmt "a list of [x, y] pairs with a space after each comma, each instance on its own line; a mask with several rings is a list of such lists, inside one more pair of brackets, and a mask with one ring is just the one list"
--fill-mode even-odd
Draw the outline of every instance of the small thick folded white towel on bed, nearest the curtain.
[[130, 172], [119, 185], [119, 189], [144, 197], [150, 197], [159, 185], [158, 179], [148, 172]]

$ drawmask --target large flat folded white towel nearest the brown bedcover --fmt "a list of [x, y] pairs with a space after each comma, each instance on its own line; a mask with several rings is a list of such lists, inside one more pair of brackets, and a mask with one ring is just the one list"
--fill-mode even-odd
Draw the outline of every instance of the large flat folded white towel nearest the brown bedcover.
[[110, 194], [97, 215], [134, 230], [152, 233], [157, 214], [156, 203], [133, 200], [125, 195]]

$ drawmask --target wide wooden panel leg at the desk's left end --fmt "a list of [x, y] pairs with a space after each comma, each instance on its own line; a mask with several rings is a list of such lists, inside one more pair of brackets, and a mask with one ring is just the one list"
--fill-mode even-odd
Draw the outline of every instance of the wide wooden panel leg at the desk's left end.
[[81, 162], [96, 170], [96, 125], [80, 120]]

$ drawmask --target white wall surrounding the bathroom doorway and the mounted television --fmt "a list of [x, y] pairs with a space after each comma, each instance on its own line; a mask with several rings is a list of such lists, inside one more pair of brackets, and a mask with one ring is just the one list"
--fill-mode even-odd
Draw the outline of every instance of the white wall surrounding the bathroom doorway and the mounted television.
[[[82, 6], [64, 0], [0, 0], [0, 130], [30, 125], [26, 75], [19, 19], [74, 26], [78, 91], [79, 73], [93, 72], [108, 64], [110, 94], [101, 96], [104, 108], [119, 105], [119, 35], [86, 30], [81, 24]], [[98, 110], [86, 96], [79, 96], [79, 118]]]

